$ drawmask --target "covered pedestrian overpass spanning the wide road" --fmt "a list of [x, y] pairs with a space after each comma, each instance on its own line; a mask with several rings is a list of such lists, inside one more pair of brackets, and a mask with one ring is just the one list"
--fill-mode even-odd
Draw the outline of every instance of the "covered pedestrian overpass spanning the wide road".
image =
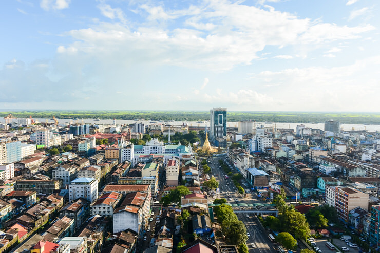
[[[273, 204], [262, 204], [262, 203], [239, 203], [239, 204], [230, 204], [224, 203], [225, 205], [229, 205], [234, 210], [234, 213], [251, 213], [255, 215], [273, 215], [275, 217], [278, 216], [278, 210], [274, 207]], [[208, 207], [218, 206], [220, 204], [208, 204]]]

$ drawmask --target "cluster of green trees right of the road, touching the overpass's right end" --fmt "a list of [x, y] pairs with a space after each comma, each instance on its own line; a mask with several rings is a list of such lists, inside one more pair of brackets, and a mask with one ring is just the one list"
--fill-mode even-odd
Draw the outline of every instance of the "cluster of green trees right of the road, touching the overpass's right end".
[[294, 209], [293, 205], [288, 206], [285, 202], [285, 193], [281, 191], [276, 196], [273, 203], [278, 209], [278, 217], [267, 217], [263, 225], [274, 228], [278, 232], [288, 232], [297, 239], [306, 239], [310, 235], [309, 223], [306, 217]]

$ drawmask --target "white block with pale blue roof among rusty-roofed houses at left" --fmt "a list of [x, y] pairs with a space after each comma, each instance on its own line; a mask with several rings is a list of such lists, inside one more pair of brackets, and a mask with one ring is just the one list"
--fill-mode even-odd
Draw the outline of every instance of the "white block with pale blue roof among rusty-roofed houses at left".
[[77, 178], [69, 185], [69, 201], [84, 198], [91, 203], [98, 198], [98, 180], [94, 178]]

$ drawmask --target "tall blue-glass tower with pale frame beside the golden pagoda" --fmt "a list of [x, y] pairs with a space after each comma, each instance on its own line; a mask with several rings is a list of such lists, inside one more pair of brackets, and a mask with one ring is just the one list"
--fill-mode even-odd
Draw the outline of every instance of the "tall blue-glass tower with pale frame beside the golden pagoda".
[[223, 138], [227, 132], [227, 108], [214, 107], [210, 110], [210, 134], [212, 139]]

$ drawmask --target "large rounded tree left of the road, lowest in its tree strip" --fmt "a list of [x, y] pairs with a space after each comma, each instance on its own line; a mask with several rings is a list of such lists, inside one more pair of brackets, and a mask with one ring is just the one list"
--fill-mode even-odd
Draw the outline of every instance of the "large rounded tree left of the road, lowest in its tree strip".
[[222, 223], [222, 232], [229, 245], [245, 244], [248, 240], [246, 227], [239, 220], [224, 220]]

